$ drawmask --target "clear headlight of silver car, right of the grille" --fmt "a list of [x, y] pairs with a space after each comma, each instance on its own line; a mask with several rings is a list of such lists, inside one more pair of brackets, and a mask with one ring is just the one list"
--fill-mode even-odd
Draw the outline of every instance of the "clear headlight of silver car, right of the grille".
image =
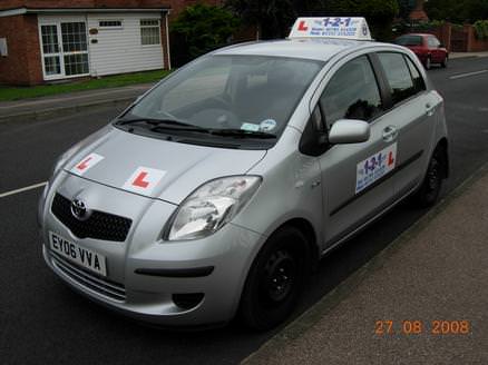
[[165, 230], [165, 239], [196, 239], [214, 234], [235, 217], [260, 184], [258, 176], [232, 176], [204, 184], [183, 201]]

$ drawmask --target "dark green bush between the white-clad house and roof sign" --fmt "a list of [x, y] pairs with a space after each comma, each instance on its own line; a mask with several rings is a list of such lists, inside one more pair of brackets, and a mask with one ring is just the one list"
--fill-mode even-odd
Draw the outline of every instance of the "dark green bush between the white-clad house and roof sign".
[[186, 7], [170, 27], [172, 46], [179, 53], [176, 63], [182, 65], [225, 46], [240, 23], [231, 11], [222, 7], [204, 3]]

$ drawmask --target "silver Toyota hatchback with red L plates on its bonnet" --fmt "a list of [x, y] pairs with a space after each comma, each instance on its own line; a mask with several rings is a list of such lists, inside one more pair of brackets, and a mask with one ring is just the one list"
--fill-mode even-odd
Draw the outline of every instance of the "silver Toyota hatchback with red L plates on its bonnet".
[[43, 257], [144, 322], [238, 314], [266, 329], [321, 257], [407, 197], [432, 205], [447, 176], [443, 101], [410, 50], [244, 43], [173, 72], [59, 158]]

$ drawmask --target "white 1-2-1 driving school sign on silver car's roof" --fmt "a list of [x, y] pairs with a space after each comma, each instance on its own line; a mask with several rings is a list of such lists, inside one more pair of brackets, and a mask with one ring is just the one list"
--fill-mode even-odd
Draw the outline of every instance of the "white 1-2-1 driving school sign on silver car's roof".
[[364, 18], [299, 18], [293, 24], [289, 38], [371, 40], [371, 33]]

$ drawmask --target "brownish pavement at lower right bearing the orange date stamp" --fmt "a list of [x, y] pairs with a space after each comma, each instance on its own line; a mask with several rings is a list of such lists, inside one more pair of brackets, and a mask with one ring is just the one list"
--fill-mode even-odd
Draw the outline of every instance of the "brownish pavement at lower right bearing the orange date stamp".
[[243, 361], [488, 364], [488, 165]]

